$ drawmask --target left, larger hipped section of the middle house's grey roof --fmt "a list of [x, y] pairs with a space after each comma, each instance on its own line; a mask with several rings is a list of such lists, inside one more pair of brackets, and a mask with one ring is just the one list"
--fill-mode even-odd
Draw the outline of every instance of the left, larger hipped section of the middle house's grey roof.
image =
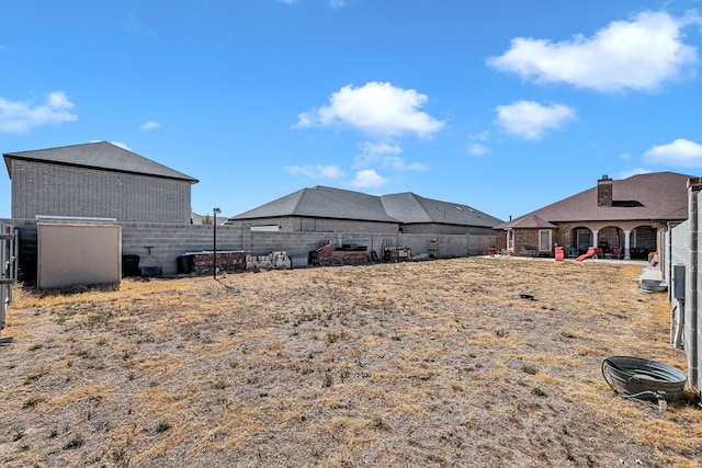
[[230, 219], [282, 216], [399, 222], [385, 213], [377, 196], [321, 185], [293, 192]]

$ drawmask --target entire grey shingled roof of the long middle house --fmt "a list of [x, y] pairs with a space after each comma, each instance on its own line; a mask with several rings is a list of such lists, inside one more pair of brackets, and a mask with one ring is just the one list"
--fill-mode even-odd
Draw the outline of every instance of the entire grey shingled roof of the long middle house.
[[303, 189], [231, 219], [301, 216], [385, 222], [492, 227], [499, 219], [466, 205], [400, 193], [373, 196], [326, 186]]

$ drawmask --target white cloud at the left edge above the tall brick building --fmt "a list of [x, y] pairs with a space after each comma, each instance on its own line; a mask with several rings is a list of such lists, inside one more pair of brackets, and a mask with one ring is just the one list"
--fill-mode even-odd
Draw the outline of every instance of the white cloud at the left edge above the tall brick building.
[[77, 121], [78, 115], [70, 112], [75, 106], [63, 91], [49, 93], [43, 104], [0, 98], [0, 133], [23, 134], [44, 125]]

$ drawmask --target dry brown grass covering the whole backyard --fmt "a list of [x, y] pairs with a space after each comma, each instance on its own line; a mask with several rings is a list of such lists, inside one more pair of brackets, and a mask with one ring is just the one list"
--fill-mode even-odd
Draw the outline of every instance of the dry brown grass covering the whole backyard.
[[0, 465], [698, 466], [699, 409], [659, 413], [600, 376], [612, 355], [684, 369], [641, 269], [458, 259], [20, 290]]

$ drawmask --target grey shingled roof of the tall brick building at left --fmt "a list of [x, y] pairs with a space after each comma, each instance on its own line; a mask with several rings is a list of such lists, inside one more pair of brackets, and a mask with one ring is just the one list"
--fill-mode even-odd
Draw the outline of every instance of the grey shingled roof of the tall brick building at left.
[[12, 159], [46, 162], [50, 164], [72, 165], [80, 168], [101, 169], [114, 172], [152, 175], [165, 179], [177, 179], [197, 183], [197, 179], [182, 172], [174, 171], [156, 161], [144, 158], [107, 141], [89, 142], [84, 145], [64, 146], [58, 148], [37, 149], [33, 151], [8, 152], [2, 155], [12, 179]]

